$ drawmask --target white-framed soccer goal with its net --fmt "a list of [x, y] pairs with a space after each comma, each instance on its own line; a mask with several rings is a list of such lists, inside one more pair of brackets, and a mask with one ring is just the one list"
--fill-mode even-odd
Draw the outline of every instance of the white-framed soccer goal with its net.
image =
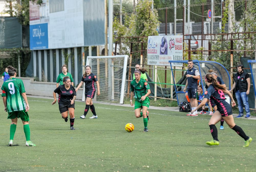
[[[127, 59], [128, 55], [87, 56], [86, 65], [91, 66], [91, 73], [97, 76], [100, 85], [100, 95], [98, 96], [97, 85], [95, 84], [96, 101], [118, 101], [123, 104], [126, 90]], [[84, 94], [82, 101], [85, 101]]]

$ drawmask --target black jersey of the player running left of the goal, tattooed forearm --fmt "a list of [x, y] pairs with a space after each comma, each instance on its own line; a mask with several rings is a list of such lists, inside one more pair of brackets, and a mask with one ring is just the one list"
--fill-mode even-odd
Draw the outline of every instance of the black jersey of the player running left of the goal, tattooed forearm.
[[60, 85], [58, 86], [58, 88], [56, 88], [54, 90], [54, 93], [58, 93], [59, 94], [59, 105], [68, 105], [71, 103], [70, 100], [73, 99], [74, 96], [77, 95], [75, 88], [70, 85], [70, 88], [67, 90], [65, 88], [65, 85]]

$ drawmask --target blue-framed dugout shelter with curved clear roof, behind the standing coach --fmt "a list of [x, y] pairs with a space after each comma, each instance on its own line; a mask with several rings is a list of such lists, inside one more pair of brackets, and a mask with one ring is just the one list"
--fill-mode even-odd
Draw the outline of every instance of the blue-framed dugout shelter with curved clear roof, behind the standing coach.
[[[184, 87], [177, 87], [176, 86], [176, 81], [175, 81], [174, 73], [173, 73], [175, 69], [173, 69], [173, 66], [175, 64], [178, 64], [178, 63], [187, 64], [188, 60], [170, 60], [169, 63], [170, 63], [170, 66], [171, 66], [171, 75], [172, 75], [173, 81], [174, 81], [174, 88], [175, 88], [176, 98], [177, 98], [177, 101], [178, 101], [178, 105], [180, 105], [183, 101], [186, 101], [186, 97], [185, 97], [185, 93], [183, 92]], [[205, 75], [207, 73], [209, 73], [208, 72], [209, 69], [217, 71], [218, 76], [222, 78], [222, 80], [226, 84], [226, 87], [228, 87], [228, 89], [230, 89], [230, 75], [229, 75], [227, 69], [222, 64], [220, 64], [218, 62], [214, 62], [214, 61], [199, 61], [199, 60], [193, 60], [193, 63], [194, 63], [193, 66], [195, 68], [197, 68], [197, 70], [200, 73], [200, 76], [201, 76], [200, 80], [201, 80], [202, 86], [204, 88], [203, 91], [205, 91], [204, 78], [205, 78]], [[184, 73], [184, 75], [186, 75], [186, 73]], [[184, 78], [185, 80], [187, 79], [186, 77], [182, 77], [182, 78]], [[225, 95], [225, 98], [226, 98], [227, 102], [230, 102], [228, 96]]]

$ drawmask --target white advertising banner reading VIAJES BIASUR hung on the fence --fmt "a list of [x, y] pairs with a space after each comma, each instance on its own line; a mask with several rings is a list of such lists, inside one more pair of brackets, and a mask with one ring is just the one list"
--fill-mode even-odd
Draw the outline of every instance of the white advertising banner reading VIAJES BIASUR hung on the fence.
[[[168, 66], [169, 60], [183, 60], [183, 36], [149, 36], [147, 42], [147, 64]], [[182, 63], [173, 66], [182, 66]]]

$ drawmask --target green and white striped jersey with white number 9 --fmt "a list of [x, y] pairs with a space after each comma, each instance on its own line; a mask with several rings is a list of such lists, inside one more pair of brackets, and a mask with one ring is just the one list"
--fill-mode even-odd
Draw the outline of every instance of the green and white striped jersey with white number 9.
[[7, 112], [25, 110], [26, 103], [22, 97], [25, 93], [23, 81], [18, 78], [9, 78], [6, 80], [2, 88], [2, 97], [7, 98]]

